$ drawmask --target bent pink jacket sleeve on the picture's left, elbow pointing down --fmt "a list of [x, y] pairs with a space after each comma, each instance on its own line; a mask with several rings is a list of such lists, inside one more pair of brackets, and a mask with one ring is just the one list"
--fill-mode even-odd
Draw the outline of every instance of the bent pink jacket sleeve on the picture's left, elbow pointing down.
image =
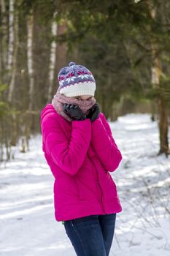
[[55, 165], [66, 173], [74, 175], [84, 162], [90, 144], [90, 119], [72, 121], [72, 135], [69, 139], [63, 129], [55, 118], [48, 118], [42, 122], [45, 151]]

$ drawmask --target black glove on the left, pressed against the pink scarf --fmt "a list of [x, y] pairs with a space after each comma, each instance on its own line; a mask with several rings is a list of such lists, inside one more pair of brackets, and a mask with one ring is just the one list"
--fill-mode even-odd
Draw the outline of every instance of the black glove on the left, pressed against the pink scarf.
[[82, 113], [82, 110], [77, 105], [65, 103], [63, 104], [63, 112], [66, 113], [66, 115], [72, 118], [74, 121], [87, 119], [86, 116]]

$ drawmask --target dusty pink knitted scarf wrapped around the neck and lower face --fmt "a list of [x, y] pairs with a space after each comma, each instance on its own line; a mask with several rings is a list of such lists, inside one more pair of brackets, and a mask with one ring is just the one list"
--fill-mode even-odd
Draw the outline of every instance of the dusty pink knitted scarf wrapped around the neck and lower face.
[[63, 103], [73, 104], [80, 107], [82, 113], [84, 115], [88, 115], [89, 109], [96, 103], [96, 99], [93, 97], [92, 99], [75, 99], [73, 97], [66, 97], [64, 94], [56, 93], [52, 99], [52, 105], [57, 111], [58, 114], [66, 118], [68, 121], [72, 121], [72, 118], [66, 115], [63, 112]]

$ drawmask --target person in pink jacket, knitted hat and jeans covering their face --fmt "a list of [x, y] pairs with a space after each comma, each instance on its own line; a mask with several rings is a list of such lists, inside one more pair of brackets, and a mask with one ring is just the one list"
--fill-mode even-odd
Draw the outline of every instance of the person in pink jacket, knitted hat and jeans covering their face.
[[122, 211], [109, 172], [122, 155], [94, 98], [92, 73], [70, 62], [58, 81], [41, 112], [42, 150], [55, 178], [55, 219], [63, 222], [77, 256], [108, 256]]

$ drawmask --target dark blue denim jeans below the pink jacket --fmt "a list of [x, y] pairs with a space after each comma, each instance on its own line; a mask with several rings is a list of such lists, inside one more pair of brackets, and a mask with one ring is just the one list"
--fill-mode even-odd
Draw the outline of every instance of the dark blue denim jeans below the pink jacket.
[[116, 214], [65, 220], [64, 227], [77, 256], [109, 256]]

